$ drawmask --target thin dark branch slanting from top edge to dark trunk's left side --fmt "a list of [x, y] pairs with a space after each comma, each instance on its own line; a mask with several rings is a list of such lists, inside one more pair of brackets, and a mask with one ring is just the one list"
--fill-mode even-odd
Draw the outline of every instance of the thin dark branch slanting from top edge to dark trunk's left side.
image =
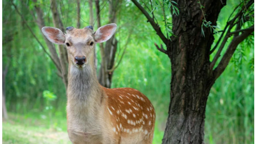
[[148, 22], [150, 22], [151, 26], [153, 26], [154, 31], [156, 31], [156, 34], [162, 39], [164, 44], [168, 44], [168, 39], [163, 35], [160, 27], [158, 24], [154, 22], [154, 19], [150, 17], [149, 13], [137, 2], [137, 0], [132, 0], [132, 2], [141, 10], [141, 12], [145, 15], [147, 18]]

